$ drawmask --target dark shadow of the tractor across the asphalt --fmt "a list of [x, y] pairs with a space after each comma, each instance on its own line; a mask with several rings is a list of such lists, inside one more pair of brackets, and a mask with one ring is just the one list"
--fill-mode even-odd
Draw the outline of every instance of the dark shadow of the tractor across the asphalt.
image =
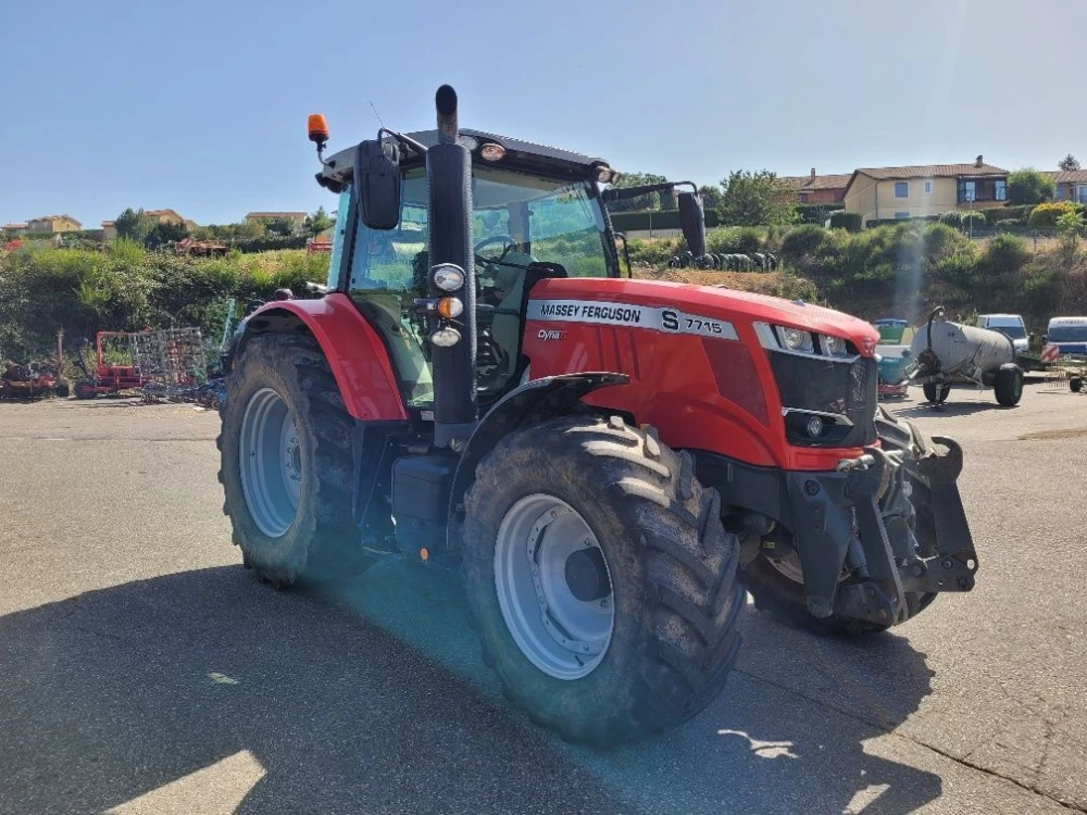
[[241, 813], [841, 812], [873, 787], [879, 812], [909, 812], [940, 794], [863, 749], [928, 693], [902, 638], [826, 643], [748, 613], [708, 711], [596, 751], [501, 700], [454, 578], [390, 562], [318, 597], [232, 566], [0, 617], [0, 811], [102, 812], [166, 785], [205, 785], [203, 811], [234, 790]]

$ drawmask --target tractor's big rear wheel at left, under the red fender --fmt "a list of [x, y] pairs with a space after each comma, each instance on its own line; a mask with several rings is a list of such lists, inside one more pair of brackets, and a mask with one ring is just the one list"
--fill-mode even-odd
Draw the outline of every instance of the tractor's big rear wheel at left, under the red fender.
[[270, 582], [327, 580], [374, 561], [351, 514], [352, 422], [309, 337], [253, 337], [227, 380], [223, 511], [247, 564]]

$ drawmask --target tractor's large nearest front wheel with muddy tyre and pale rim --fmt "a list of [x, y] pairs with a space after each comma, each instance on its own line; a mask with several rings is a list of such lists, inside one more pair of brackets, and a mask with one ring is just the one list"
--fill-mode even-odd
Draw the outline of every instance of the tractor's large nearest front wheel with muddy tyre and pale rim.
[[569, 741], [674, 727], [739, 647], [738, 542], [689, 454], [617, 417], [515, 430], [464, 501], [463, 568], [508, 699]]

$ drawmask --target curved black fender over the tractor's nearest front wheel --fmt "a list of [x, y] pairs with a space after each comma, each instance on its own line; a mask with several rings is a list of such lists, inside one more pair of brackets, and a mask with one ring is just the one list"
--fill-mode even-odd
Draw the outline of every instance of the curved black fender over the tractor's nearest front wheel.
[[598, 388], [626, 385], [627, 381], [625, 374], [563, 374], [525, 383], [502, 397], [476, 425], [457, 465], [449, 496], [449, 548], [457, 548], [461, 504], [475, 480], [476, 466], [504, 436], [525, 425], [592, 411], [582, 402], [583, 397]]

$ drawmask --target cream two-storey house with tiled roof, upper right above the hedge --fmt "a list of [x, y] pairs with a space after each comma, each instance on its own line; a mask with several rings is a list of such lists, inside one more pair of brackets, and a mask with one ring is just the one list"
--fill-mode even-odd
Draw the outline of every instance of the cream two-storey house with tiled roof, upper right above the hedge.
[[853, 171], [842, 200], [863, 224], [992, 209], [1008, 203], [1008, 171], [980, 155], [970, 164], [863, 167]]

